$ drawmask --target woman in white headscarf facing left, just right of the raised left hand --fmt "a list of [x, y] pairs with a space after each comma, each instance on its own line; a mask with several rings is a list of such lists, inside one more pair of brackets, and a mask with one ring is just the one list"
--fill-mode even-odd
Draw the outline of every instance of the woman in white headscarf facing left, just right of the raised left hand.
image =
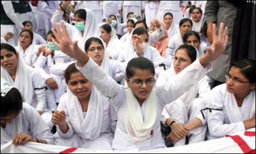
[[122, 43], [116, 35], [116, 31], [109, 24], [100, 26], [100, 38], [106, 43], [106, 51], [109, 59], [117, 59], [122, 50]]

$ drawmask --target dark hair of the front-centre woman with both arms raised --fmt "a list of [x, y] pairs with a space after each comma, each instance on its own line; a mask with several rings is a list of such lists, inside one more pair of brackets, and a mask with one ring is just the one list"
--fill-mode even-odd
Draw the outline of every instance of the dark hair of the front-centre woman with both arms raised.
[[134, 75], [134, 70], [150, 70], [150, 72], [155, 75], [155, 67], [154, 64], [147, 58], [139, 57], [139, 58], [132, 58], [126, 67], [126, 77], [130, 79]]

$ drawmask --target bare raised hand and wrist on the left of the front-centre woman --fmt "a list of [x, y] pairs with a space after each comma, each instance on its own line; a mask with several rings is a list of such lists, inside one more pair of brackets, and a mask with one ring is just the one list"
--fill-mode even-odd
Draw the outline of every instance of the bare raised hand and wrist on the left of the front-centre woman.
[[81, 67], [86, 65], [86, 63], [89, 60], [89, 56], [86, 54], [86, 52], [84, 52], [81, 48], [78, 47], [78, 45], [77, 45], [78, 40], [76, 40], [74, 42], [72, 42], [72, 40], [70, 40], [64, 23], [61, 22], [61, 24], [60, 24], [63, 32], [60, 30], [60, 28], [57, 26], [56, 23], [53, 23], [53, 25], [54, 25], [56, 31], [54, 31], [53, 28], [51, 30], [56, 38], [53, 38], [52, 42], [62, 52], [64, 52], [71, 58], [76, 59]]

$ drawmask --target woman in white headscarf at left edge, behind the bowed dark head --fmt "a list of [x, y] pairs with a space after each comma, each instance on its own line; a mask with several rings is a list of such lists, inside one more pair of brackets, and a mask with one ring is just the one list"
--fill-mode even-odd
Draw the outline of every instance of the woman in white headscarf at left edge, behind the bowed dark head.
[[49, 128], [52, 112], [45, 102], [45, 81], [40, 72], [24, 63], [19, 52], [9, 43], [1, 43], [1, 77], [19, 89], [24, 102], [36, 109]]

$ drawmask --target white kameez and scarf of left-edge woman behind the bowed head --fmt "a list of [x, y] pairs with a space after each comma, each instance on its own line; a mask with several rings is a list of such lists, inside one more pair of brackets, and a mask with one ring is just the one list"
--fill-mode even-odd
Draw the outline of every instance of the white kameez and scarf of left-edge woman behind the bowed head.
[[42, 118], [49, 128], [53, 127], [51, 122], [52, 112], [46, 109], [45, 102], [45, 81], [40, 72], [24, 63], [19, 57], [15, 81], [10, 73], [1, 66], [1, 77], [3, 77], [12, 86], [19, 89], [24, 102], [34, 107], [37, 111], [42, 112]]

